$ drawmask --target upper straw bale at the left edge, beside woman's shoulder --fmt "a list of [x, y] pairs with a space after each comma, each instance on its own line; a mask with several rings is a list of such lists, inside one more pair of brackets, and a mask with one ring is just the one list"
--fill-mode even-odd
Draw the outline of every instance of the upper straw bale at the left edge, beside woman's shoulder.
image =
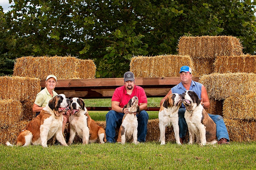
[[0, 99], [35, 100], [40, 91], [40, 79], [38, 78], [0, 77]]

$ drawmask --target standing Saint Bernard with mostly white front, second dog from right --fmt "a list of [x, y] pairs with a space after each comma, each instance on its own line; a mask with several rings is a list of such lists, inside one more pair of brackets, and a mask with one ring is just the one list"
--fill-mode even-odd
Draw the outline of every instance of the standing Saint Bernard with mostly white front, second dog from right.
[[177, 93], [170, 94], [160, 107], [158, 118], [159, 118], [159, 129], [160, 138], [159, 142], [161, 145], [165, 144], [165, 128], [172, 127], [176, 139], [176, 143], [181, 145], [179, 137], [179, 116], [178, 111], [181, 106], [182, 99], [181, 95]]

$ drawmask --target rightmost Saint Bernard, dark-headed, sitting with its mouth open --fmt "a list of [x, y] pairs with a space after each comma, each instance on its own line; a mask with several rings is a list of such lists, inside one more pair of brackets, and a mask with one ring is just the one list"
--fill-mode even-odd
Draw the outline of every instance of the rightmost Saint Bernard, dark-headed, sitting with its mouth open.
[[188, 124], [189, 144], [200, 145], [215, 144], [218, 142], [216, 137], [216, 124], [209, 117], [204, 107], [200, 104], [201, 100], [194, 91], [187, 90], [182, 94], [182, 102], [186, 107], [185, 119]]

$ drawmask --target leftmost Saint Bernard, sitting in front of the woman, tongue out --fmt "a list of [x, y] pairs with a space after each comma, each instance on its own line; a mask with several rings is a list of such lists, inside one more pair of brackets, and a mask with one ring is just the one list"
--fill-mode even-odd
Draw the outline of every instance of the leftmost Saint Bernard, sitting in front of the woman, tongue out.
[[[62, 112], [69, 110], [69, 103], [69, 99], [63, 94], [54, 96], [46, 107], [41, 110], [40, 114], [20, 132], [17, 138], [17, 145], [28, 146], [32, 144], [47, 147], [47, 141], [55, 135], [61, 145], [67, 146], [61, 128]], [[12, 146], [8, 141], [6, 145]]]

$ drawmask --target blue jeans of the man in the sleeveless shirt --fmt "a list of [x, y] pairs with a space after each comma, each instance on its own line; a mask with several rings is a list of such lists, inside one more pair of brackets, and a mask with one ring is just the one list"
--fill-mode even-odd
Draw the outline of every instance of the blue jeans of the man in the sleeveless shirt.
[[[187, 133], [187, 123], [186, 120], [184, 118], [184, 114], [185, 114], [186, 109], [184, 108], [180, 108], [178, 111], [179, 114], [179, 134], [180, 134], [180, 138], [184, 138], [186, 133]], [[217, 135], [217, 139], [218, 141], [220, 140], [220, 138], [226, 138], [228, 139], [229, 142], [229, 136], [228, 136], [228, 130], [227, 127], [223, 121], [222, 116], [220, 115], [211, 115], [208, 113], [208, 115], [212, 118], [213, 122], [216, 124], [216, 135]]]

